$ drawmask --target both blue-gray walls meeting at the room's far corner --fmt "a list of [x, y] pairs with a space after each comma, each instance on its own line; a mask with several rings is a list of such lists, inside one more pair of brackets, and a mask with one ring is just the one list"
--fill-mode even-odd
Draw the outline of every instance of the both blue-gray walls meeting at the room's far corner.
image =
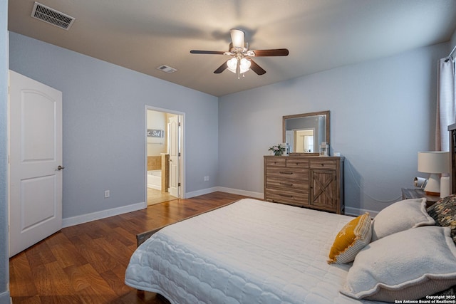
[[397, 201], [423, 176], [417, 152], [434, 148], [437, 59], [449, 48], [227, 95], [218, 108], [211, 95], [16, 33], [10, 68], [63, 92], [64, 218], [145, 200], [144, 105], [186, 114], [187, 193], [219, 186], [259, 195], [262, 156], [281, 142], [281, 116], [331, 110], [331, 153], [346, 157], [346, 206], [358, 212]]

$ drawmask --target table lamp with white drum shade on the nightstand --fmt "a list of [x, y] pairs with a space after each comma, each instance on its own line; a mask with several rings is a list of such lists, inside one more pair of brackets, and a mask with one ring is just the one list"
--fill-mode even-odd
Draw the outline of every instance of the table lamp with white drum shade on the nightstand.
[[418, 152], [418, 171], [430, 173], [425, 187], [426, 194], [440, 196], [439, 174], [450, 172], [450, 152]]

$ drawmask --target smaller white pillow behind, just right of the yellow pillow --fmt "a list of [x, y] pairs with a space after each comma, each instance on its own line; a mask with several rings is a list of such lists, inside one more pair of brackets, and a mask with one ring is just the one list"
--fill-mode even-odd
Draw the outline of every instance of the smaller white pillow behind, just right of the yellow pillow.
[[371, 241], [399, 231], [429, 225], [435, 225], [435, 221], [427, 214], [426, 199], [404, 199], [391, 204], [375, 216]]

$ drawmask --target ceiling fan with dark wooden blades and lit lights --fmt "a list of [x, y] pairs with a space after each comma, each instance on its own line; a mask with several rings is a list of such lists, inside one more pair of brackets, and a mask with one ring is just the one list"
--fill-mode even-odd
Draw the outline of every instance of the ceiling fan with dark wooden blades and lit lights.
[[248, 70], [253, 70], [258, 75], [263, 75], [266, 70], [261, 68], [252, 57], [264, 57], [264, 56], [288, 56], [289, 51], [286, 48], [275, 48], [272, 50], [249, 50], [249, 44], [244, 43], [244, 31], [237, 28], [232, 28], [229, 33], [231, 34], [232, 43], [229, 43], [229, 51], [199, 51], [192, 50], [192, 54], [212, 54], [212, 55], [228, 55], [231, 59], [225, 61], [222, 65], [214, 70], [214, 73], [219, 74], [224, 70], [228, 69], [233, 73], [237, 74], [237, 78], [240, 78], [242, 74]]

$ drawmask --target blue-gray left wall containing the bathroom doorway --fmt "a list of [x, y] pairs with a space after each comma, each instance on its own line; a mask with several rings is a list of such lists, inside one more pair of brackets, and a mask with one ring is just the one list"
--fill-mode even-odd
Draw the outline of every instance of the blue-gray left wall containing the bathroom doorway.
[[214, 96], [17, 33], [9, 68], [63, 93], [64, 219], [145, 201], [145, 105], [185, 112], [186, 192], [218, 184]]

